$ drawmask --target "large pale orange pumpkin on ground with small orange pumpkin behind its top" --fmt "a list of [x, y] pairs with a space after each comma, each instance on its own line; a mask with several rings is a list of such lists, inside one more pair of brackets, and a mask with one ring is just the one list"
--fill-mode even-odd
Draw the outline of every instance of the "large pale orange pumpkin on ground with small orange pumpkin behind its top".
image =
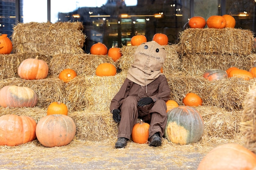
[[36, 137], [46, 147], [70, 144], [76, 134], [76, 124], [67, 115], [47, 115], [36, 125]]

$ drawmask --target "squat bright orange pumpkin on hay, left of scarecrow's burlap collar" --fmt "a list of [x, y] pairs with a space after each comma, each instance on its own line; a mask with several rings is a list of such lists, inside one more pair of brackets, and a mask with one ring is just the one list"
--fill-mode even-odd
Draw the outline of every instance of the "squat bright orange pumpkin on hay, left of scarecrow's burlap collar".
[[116, 73], [117, 68], [111, 63], [102, 63], [96, 68], [96, 75], [98, 76], [113, 76]]

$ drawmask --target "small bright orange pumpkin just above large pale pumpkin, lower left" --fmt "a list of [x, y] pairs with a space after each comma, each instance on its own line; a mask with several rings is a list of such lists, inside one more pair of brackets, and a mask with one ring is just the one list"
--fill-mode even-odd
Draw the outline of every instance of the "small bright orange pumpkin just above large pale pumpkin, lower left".
[[67, 106], [61, 102], [52, 102], [47, 108], [47, 115], [61, 114], [67, 115]]

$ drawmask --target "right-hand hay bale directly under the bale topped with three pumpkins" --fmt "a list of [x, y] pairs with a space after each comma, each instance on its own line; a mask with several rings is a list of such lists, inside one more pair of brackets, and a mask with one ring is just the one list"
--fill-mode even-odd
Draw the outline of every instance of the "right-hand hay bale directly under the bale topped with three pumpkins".
[[208, 69], [218, 68], [227, 70], [230, 67], [237, 67], [249, 70], [254, 67], [256, 54], [197, 54], [188, 53], [181, 57], [181, 70], [188, 75], [201, 75]]

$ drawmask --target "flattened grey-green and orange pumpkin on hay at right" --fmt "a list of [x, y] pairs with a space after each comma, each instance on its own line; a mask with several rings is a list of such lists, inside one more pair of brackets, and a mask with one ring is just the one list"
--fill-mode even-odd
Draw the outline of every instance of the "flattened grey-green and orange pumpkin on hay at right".
[[228, 75], [227, 72], [222, 69], [209, 69], [204, 72], [203, 77], [212, 81], [228, 78]]

